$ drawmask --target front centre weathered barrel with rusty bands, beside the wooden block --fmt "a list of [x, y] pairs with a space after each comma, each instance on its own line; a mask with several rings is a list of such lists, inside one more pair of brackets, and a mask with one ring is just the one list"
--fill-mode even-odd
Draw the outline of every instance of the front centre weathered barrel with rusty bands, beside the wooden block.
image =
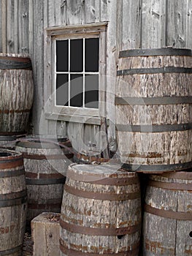
[[139, 178], [119, 167], [69, 165], [61, 206], [61, 255], [138, 255]]

